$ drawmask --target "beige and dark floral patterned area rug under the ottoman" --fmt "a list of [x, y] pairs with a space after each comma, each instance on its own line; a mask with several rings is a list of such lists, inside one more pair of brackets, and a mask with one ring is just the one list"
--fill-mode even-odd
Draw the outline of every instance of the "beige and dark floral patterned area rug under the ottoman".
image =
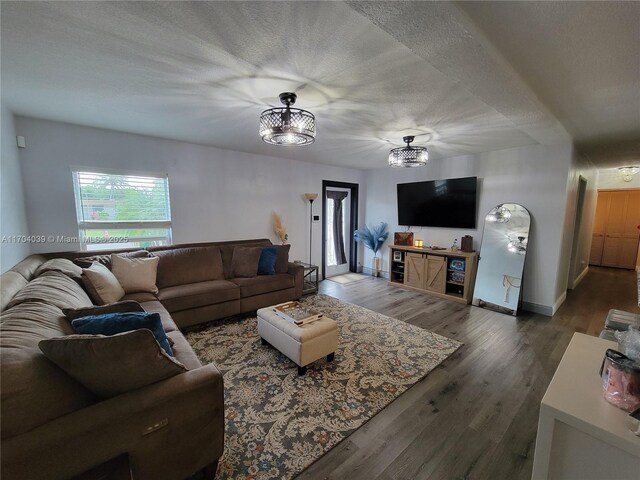
[[255, 318], [186, 337], [224, 375], [226, 432], [216, 479], [290, 479], [422, 379], [462, 344], [325, 295], [303, 302], [338, 322], [335, 360], [304, 376], [260, 343]]

